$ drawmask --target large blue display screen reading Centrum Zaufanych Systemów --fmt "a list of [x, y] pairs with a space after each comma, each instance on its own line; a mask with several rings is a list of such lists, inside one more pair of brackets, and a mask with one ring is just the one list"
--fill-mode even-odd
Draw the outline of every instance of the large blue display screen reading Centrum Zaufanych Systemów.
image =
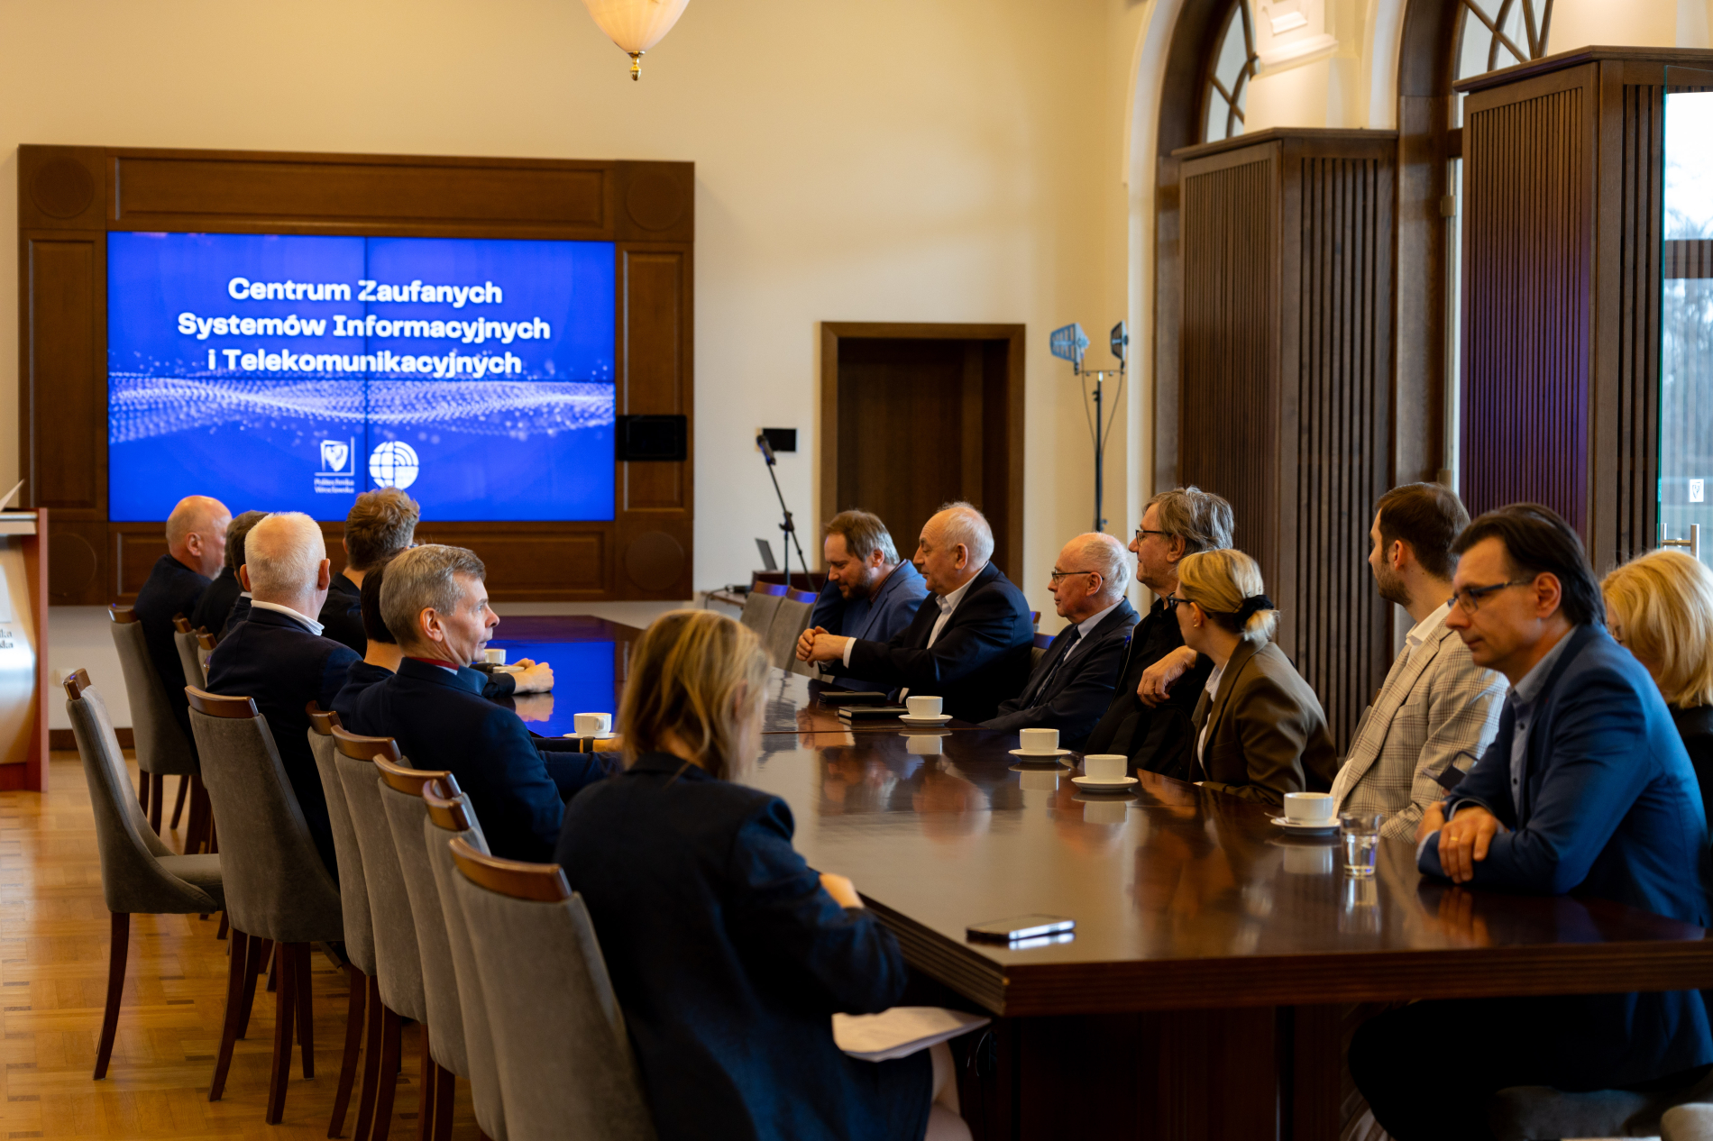
[[108, 516], [613, 517], [613, 243], [108, 235]]

